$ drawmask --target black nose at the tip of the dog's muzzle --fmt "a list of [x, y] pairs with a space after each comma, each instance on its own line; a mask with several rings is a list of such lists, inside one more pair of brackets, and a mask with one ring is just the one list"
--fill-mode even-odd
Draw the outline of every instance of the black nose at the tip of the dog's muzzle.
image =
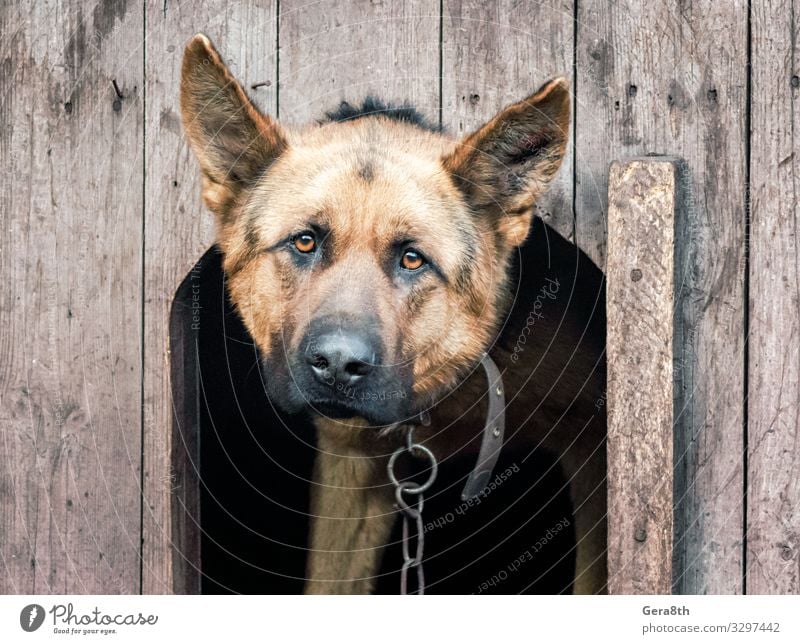
[[375, 348], [364, 335], [336, 329], [307, 344], [306, 361], [320, 382], [352, 385], [375, 366]]

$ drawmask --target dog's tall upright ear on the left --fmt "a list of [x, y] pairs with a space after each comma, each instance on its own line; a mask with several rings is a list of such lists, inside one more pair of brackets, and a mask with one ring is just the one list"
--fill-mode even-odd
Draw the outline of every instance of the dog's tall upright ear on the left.
[[253, 105], [203, 34], [183, 56], [181, 114], [203, 172], [203, 199], [224, 223], [241, 190], [286, 149], [286, 137]]

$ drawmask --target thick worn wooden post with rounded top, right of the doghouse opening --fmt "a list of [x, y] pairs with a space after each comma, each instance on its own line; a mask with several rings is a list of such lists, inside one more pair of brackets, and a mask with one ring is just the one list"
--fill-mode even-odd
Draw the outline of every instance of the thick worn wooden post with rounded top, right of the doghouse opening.
[[608, 184], [609, 592], [672, 589], [682, 162], [614, 162]]

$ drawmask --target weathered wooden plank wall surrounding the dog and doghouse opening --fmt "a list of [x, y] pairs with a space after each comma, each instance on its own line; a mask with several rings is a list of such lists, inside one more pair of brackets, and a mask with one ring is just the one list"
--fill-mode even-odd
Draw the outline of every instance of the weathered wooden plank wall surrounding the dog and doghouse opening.
[[610, 162], [684, 157], [676, 590], [800, 592], [800, 4], [752, 5], [3, 3], [0, 591], [172, 587], [168, 307], [213, 240], [178, 74], [203, 31], [290, 123], [374, 93], [461, 134], [566, 76], [574, 154], [539, 214], [601, 266]]

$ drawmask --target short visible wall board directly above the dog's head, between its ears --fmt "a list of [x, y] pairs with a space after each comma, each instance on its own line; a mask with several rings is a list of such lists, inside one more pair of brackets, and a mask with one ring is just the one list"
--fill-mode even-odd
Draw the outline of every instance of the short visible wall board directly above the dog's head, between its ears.
[[373, 95], [437, 122], [438, 0], [282, 0], [282, 121], [305, 124]]

